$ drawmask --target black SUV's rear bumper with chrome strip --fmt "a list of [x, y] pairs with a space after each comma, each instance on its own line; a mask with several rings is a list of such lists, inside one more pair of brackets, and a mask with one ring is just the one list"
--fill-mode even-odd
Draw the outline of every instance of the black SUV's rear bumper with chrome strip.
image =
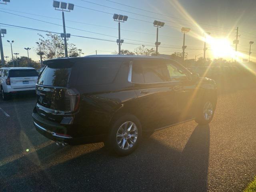
[[58, 123], [54, 123], [49, 120], [43, 119], [35, 112], [33, 112], [32, 118], [36, 130], [50, 140], [63, 141], [68, 144], [76, 145], [102, 142], [105, 138], [105, 135], [101, 134], [94, 136], [76, 137], [72, 134], [68, 134], [68, 129], [75, 129], [74, 125], [66, 127]]

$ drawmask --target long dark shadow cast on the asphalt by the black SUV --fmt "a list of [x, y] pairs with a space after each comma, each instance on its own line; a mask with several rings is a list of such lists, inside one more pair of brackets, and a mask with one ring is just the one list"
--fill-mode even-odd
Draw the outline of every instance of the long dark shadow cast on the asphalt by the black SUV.
[[206, 191], [209, 145], [209, 126], [196, 126], [182, 152], [152, 137], [124, 157], [109, 154], [102, 143], [62, 148], [55, 154], [48, 146], [36, 151], [36, 158], [24, 156], [0, 166], [0, 189]]

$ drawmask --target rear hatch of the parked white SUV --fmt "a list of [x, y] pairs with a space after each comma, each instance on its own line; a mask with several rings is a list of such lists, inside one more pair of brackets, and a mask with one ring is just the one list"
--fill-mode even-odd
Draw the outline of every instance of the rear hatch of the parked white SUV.
[[33, 88], [38, 80], [38, 73], [35, 69], [12, 69], [9, 72], [11, 88]]

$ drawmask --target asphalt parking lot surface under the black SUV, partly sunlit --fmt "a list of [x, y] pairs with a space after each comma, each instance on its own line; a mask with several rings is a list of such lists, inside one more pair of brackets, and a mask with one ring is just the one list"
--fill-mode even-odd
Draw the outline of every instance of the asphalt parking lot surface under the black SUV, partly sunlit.
[[0, 101], [0, 191], [242, 191], [256, 175], [254, 82], [223, 86], [208, 126], [155, 132], [125, 157], [103, 143], [44, 138], [31, 118], [34, 95]]

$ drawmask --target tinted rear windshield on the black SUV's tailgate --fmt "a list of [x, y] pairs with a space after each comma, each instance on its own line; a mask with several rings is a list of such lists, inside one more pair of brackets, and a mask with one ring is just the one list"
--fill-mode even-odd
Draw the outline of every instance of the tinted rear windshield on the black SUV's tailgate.
[[38, 79], [38, 84], [66, 87], [68, 84], [68, 79], [71, 72], [71, 67], [66, 67], [64, 65], [48, 65], [42, 72]]

